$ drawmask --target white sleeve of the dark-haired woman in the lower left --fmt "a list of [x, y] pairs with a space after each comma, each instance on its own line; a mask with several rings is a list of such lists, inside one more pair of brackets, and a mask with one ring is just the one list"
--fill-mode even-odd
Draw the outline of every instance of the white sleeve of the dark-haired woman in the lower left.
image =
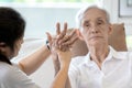
[[40, 88], [16, 67], [6, 68], [3, 78], [0, 80], [0, 88]]

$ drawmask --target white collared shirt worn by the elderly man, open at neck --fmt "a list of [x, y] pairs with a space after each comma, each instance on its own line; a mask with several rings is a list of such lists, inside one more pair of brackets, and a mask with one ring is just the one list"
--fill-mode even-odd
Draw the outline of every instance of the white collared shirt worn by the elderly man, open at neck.
[[69, 66], [72, 88], [132, 88], [132, 52], [116, 52], [109, 55], [100, 68], [86, 56], [73, 58]]

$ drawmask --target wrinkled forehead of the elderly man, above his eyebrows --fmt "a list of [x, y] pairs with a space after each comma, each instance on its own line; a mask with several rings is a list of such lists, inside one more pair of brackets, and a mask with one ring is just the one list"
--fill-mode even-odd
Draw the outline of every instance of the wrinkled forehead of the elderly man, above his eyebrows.
[[87, 20], [87, 21], [95, 21], [95, 20], [105, 20], [107, 21], [107, 14], [105, 11], [100, 10], [100, 9], [89, 9], [84, 13], [82, 20]]

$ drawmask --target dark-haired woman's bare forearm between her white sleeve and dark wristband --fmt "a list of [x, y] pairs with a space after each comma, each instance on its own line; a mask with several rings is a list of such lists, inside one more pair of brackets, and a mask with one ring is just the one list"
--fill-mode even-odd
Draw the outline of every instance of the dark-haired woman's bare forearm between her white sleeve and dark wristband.
[[47, 59], [50, 55], [50, 50], [44, 45], [33, 54], [20, 61], [20, 68], [22, 68], [26, 75], [31, 75], [45, 62], [45, 59]]

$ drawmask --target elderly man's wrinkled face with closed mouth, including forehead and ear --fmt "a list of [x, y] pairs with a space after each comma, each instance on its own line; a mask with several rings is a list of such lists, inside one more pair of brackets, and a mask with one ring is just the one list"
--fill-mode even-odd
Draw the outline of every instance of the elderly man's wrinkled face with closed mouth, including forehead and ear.
[[108, 43], [111, 25], [105, 12], [99, 9], [88, 10], [81, 22], [82, 35], [88, 46], [100, 46]]

